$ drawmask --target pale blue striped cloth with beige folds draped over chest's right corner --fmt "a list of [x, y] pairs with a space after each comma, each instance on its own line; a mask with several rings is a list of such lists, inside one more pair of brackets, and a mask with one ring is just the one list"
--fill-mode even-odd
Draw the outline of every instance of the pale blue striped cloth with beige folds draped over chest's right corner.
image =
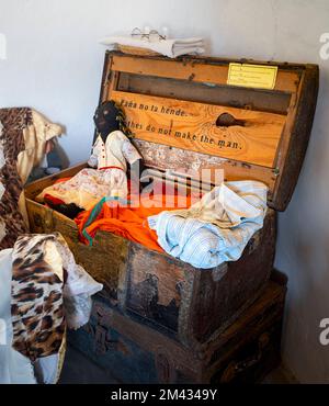
[[261, 182], [222, 183], [188, 210], [148, 217], [169, 255], [195, 268], [215, 268], [240, 258], [263, 226], [268, 188]]

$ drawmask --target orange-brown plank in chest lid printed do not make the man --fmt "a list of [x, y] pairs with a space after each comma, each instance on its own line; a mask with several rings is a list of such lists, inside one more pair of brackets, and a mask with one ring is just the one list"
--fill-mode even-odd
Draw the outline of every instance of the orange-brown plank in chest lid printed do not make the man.
[[[284, 115], [118, 91], [111, 94], [138, 139], [273, 167]], [[224, 114], [237, 124], [219, 125]]]

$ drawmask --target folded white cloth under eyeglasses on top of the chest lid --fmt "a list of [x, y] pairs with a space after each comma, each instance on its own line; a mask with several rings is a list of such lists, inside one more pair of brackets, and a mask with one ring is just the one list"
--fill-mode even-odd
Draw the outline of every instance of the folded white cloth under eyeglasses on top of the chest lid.
[[159, 40], [147, 41], [135, 38], [133, 36], [107, 36], [100, 40], [100, 44], [114, 46], [125, 45], [135, 46], [138, 48], [146, 48], [166, 55], [169, 58], [175, 58], [180, 55], [186, 54], [203, 54], [204, 43], [201, 37], [184, 38], [184, 40]]

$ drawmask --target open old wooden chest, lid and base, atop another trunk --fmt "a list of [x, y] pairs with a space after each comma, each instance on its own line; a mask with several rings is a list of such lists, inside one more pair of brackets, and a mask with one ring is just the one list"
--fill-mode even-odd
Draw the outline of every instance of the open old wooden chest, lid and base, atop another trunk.
[[110, 306], [190, 348], [217, 337], [265, 289], [274, 260], [275, 211], [292, 196], [315, 113], [317, 66], [252, 61], [253, 69], [277, 67], [273, 89], [227, 84], [230, 68], [248, 70], [246, 63], [106, 53], [100, 99], [123, 106], [135, 145], [160, 177], [170, 169], [178, 182], [193, 182], [206, 170], [209, 184], [216, 184], [222, 169], [225, 180], [269, 187], [264, 227], [238, 261], [200, 270], [103, 232], [92, 247], [82, 245], [75, 222], [35, 196], [86, 163], [25, 191], [32, 232], [60, 232], [77, 261], [104, 284], [102, 297]]

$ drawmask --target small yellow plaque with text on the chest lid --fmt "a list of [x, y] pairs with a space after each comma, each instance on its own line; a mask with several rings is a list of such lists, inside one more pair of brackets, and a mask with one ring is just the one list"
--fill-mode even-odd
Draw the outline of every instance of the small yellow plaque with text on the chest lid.
[[227, 84], [274, 89], [277, 66], [229, 64]]

